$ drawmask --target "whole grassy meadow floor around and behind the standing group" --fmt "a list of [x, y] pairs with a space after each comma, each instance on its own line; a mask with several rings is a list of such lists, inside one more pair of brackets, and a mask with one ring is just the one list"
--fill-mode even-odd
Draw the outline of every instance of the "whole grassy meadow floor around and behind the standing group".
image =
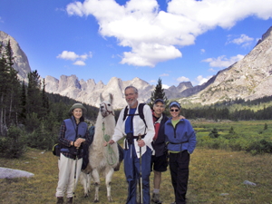
[[[191, 121], [196, 129], [198, 140], [209, 136], [209, 131], [217, 128], [219, 134], [228, 134], [232, 126], [245, 141], [264, 137], [272, 140], [272, 121]], [[267, 130], [263, 131], [267, 123]], [[260, 133], [260, 131], [263, 131]], [[268, 133], [267, 133], [268, 132]], [[270, 133], [269, 133], [270, 132]], [[241, 136], [238, 136], [238, 140]], [[258, 137], [256, 139], [256, 137]], [[203, 145], [204, 146], [204, 145]], [[217, 150], [197, 146], [191, 155], [189, 171], [188, 203], [228, 203], [228, 204], [266, 204], [272, 203], [272, 154], [253, 156], [245, 151], [231, 151], [229, 148]], [[123, 164], [123, 163], [122, 163]], [[127, 184], [121, 170], [114, 172], [112, 178], [112, 204], [125, 203]], [[55, 203], [55, 188], [58, 180], [57, 157], [51, 151], [28, 149], [20, 159], [0, 158], [0, 167], [26, 170], [34, 177], [0, 180], [0, 203]], [[153, 174], [151, 173], [151, 189]], [[163, 203], [174, 200], [170, 182], [170, 170], [162, 174], [160, 195]], [[249, 180], [256, 186], [245, 185]], [[75, 203], [93, 202], [93, 186], [89, 198], [83, 198], [83, 186], [79, 183], [75, 191]], [[100, 190], [100, 203], [108, 203], [104, 179]]]

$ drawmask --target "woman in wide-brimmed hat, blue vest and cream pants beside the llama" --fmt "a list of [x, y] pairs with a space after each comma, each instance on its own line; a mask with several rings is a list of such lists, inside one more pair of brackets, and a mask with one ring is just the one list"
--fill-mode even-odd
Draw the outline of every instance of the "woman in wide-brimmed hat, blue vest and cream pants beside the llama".
[[63, 203], [65, 191], [67, 203], [73, 203], [73, 193], [83, 165], [82, 146], [91, 144], [88, 126], [83, 118], [84, 112], [87, 110], [82, 103], [74, 103], [69, 110], [72, 116], [63, 121], [59, 133], [62, 148], [58, 160], [59, 181], [55, 193], [59, 204]]

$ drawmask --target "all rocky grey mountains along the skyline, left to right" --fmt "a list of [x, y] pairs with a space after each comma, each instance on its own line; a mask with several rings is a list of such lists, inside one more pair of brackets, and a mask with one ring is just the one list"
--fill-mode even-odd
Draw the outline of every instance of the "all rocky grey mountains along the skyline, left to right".
[[[19, 72], [19, 79], [27, 82], [27, 73], [31, 72], [26, 55], [15, 39], [0, 31], [0, 42], [10, 39], [15, 54], [15, 69]], [[272, 89], [272, 27], [270, 27], [255, 48], [244, 59], [228, 68], [219, 71], [207, 83], [192, 86], [190, 82], [180, 83], [177, 87], [165, 89], [169, 99], [180, 99], [180, 102], [199, 102], [211, 104], [223, 100], [237, 98], [252, 100], [271, 95]], [[124, 107], [123, 90], [133, 84], [139, 89], [139, 101], [148, 102], [154, 86], [138, 77], [130, 81], [122, 81], [112, 77], [109, 83], [102, 81], [95, 83], [93, 79], [86, 82], [79, 80], [76, 75], [62, 75], [60, 79], [53, 76], [45, 77], [46, 92], [58, 93], [79, 102], [99, 106], [100, 93], [106, 97], [110, 92], [114, 94], [113, 106], [116, 109]]]

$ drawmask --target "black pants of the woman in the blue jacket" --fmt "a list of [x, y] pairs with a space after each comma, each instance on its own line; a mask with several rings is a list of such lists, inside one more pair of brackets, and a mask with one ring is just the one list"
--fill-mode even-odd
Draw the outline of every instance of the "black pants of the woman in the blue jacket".
[[177, 204], [184, 204], [189, 178], [189, 153], [170, 153], [170, 173]]

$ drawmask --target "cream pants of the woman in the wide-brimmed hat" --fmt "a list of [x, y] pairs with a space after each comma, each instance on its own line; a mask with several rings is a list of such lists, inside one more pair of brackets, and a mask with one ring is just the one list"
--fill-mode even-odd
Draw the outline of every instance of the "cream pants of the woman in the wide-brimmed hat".
[[[67, 158], [63, 156], [61, 153], [60, 159], [58, 160], [59, 166], [59, 181], [58, 187], [56, 188], [56, 197], [64, 197], [64, 193], [66, 191], [67, 198], [73, 197], [73, 192], [75, 191], [77, 181], [79, 179], [83, 159], [77, 160], [77, 168], [76, 168], [76, 178], [74, 185], [74, 170], [75, 170], [76, 160]], [[74, 186], [74, 189], [73, 189]]]

